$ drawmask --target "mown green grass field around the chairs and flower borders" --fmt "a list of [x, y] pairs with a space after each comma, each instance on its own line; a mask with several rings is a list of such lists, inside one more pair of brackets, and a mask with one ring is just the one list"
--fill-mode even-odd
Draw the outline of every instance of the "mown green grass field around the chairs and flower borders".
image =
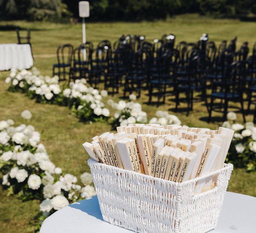
[[[71, 43], [78, 46], [82, 41], [81, 24], [54, 24], [54, 23], [31, 23], [24, 21], [0, 22], [0, 43], [16, 43], [16, 33], [8, 28], [30, 28], [32, 30], [32, 48], [34, 55], [34, 65], [43, 75], [50, 75], [52, 64], [56, 62], [56, 49], [60, 44]], [[238, 36], [237, 46], [244, 41], [249, 42], [252, 48], [256, 41], [256, 24], [252, 22], [240, 22], [239, 20], [212, 19], [198, 15], [180, 15], [170, 18], [167, 21], [140, 22], [140, 23], [88, 23], [86, 24], [87, 40], [97, 43], [103, 39], [114, 42], [122, 34], [145, 35], [146, 40], [152, 42], [153, 39], [160, 38], [164, 33], [176, 35], [176, 43], [182, 40], [187, 42], [197, 42], [202, 33], [208, 33], [210, 40], [218, 45], [222, 40], [231, 40]], [[25, 32], [24, 32], [25, 33]], [[8, 85], [4, 80], [9, 72], [1, 72], [0, 76], [0, 120], [12, 118], [16, 124], [22, 123], [20, 113], [28, 109], [33, 117], [30, 124], [41, 132], [42, 143], [45, 144], [51, 160], [56, 166], [62, 167], [66, 173], [79, 175], [89, 171], [87, 165], [88, 155], [82, 147], [84, 141], [90, 141], [92, 136], [104, 131], [111, 130], [109, 124], [93, 123], [85, 124], [70, 115], [67, 107], [54, 105], [37, 104], [29, 100], [24, 94], [10, 93], [7, 91]], [[148, 114], [148, 119], [155, 115], [156, 110], [168, 110], [173, 114], [174, 102], [167, 100], [165, 105], [157, 108], [148, 106], [147, 93], [143, 93], [138, 100], [142, 104], [143, 111]], [[119, 100], [121, 94], [114, 97]], [[182, 107], [185, 105], [181, 105]], [[208, 124], [206, 107], [201, 102], [194, 105], [194, 111], [189, 117], [185, 112], [176, 114], [183, 124], [198, 127], [210, 127], [212, 129], [221, 125], [220, 113], [213, 113], [215, 122]], [[246, 117], [247, 121], [252, 120], [252, 116]], [[242, 122], [241, 115], [238, 114], [237, 122]], [[245, 169], [234, 169], [229, 191], [244, 193], [256, 196], [255, 187], [256, 173], [246, 173]], [[0, 189], [0, 231], [1, 232], [26, 232], [28, 222], [32, 219], [38, 209], [36, 201], [22, 203], [17, 197], [6, 197], [6, 192]]]

